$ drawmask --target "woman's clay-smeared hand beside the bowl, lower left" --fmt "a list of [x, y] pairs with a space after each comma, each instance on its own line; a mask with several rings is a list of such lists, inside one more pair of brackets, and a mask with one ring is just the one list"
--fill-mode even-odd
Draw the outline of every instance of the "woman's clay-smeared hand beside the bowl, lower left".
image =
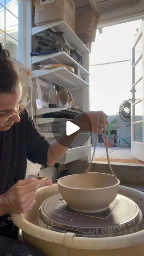
[[32, 178], [19, 180], [6, 193], [0, 196], [0, 204], [6, 213], [24, 213], [30, 210], [36, 203], [36, 190], [44, 186], [50, 186], [50, 180], [34, 180]]

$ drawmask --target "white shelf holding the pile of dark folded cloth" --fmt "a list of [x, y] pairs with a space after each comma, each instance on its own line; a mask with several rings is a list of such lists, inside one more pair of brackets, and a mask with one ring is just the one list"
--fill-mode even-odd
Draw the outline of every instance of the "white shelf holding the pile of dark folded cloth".
[[81, 76], [90, 75], [90, 73], [85, 68], [83, 68], [78, 62], [76, 62], [76, 60], [71, 58], [66, 52], [56, 52], [53, 54], [32, 56], [32, 64], [35, 64], [36, 62], [42, 62], [44, 65], [62, 64], [69, 66], [77, 66], [78, 68], [80, 68]]

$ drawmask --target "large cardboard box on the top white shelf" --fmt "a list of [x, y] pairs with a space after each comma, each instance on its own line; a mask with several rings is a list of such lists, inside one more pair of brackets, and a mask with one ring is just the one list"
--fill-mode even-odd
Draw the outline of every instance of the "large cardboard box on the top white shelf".
[[35, 4], [35, 25], [40, 26], [52, 22], [64, 20], [72, 30], [75, 30], [76, 6], [72, 0], [54, 0]]

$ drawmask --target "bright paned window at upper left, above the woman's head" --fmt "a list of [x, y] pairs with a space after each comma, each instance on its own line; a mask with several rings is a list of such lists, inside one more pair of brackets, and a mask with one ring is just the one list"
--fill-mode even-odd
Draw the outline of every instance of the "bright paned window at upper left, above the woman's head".
[[18, 6], [16, 0], [0, 0], [0, 42], [12, 58], [20, 61]]

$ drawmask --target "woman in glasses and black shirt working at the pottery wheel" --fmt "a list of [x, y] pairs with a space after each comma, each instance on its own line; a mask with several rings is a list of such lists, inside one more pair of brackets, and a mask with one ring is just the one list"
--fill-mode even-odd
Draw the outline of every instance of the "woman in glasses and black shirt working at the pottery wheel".
[[52, 184], [49, 180], [25, 179], [26, 158], [43, 166], [53, 166], [80, 130], [95, 132], [99, 118], [98, 133], [101, 134], [104, 119], [107, 124], [107, 116], [102, 111], [80, 113], [72, 121], [80, 130], [70, 136], [64, 132], [49, 144], [28, 112], [22, 110], [21, 97], [20, 78], [9, 52], [0, 46], [0, 235], [9, 238], [16, 238], [10, 214], [30, 210], [35, 204], [36, 189]]

